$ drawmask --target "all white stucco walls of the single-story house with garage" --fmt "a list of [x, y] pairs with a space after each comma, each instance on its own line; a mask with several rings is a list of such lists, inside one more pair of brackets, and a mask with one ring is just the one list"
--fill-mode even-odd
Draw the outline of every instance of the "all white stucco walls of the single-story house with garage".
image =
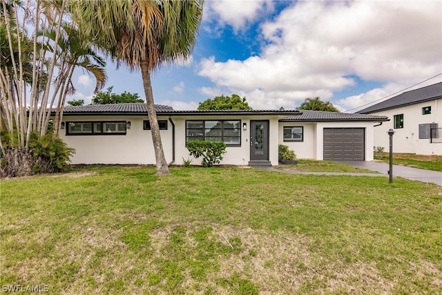
[[[64, 116], [64, 122], [90, 121], [130, 121], [131, 129], [126, 135], [66, 135], [66, 128], [61, 130], [61, 138], [76, 150], [73, 164], [155, 164], [155, 153], [151, 131], [143, 130], [145, 116]], [[158, 117], [167, 120], [168, 129], [160, 131], [166, 161], [173, 160], [173, 128], [169, 117]], [[269, 122], [269, 161], [278, 164], [278, 144], [286, 144], [293, 149], [298, 158], [323, 160], [324, 128], [364, 128], [365, 160], [373, 160], [374, 129], [372, 122], [278, 122], [278, 115], [222, 115], [222, 116], [174, 116], [175, 124], [175, 164], [191, 158], [186, 149], [186, 120], [241, 120], [247, 130], [241, 129], [240, 146], [228, 146], [224, 160], [220, 164], [247, 165], [250, 161], [250, 122], [267, 120]], [[303, 142], [284, 142], [283, 126], [303, 126]], [[379, 128], [379, 127], [376, 127]], [[386, 134], [386, 133], [385, 133]], [[193, 164], [200, 164], [201, 159], [193, 159]]]

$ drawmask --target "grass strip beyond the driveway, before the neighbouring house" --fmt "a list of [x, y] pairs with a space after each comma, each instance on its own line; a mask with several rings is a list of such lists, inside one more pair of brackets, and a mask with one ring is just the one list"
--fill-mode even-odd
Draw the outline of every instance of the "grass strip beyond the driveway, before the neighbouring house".
[[[389, 153], [383, 153], [382, 161], [390, 163]], [[442, 155], [416, 155], [415, 153], [393, 153], [393, 164], [442, 172]]]

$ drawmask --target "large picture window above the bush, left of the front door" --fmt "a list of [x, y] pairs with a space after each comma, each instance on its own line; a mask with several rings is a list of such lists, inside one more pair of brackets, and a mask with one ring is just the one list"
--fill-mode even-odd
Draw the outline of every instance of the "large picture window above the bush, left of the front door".
[[241, 145], [240, 120], [189, 120], [186, 121], [187, 140], [224, 142], [230, 146]]

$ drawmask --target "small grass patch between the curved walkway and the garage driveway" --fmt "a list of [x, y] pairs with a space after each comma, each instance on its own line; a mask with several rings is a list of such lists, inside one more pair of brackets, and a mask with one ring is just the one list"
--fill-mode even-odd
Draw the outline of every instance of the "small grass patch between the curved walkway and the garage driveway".
[[276, 169], [294, 170], [294, 171], [311, 171], [311, 172], [345, 172], [345, 173], [377, 173], [375, 171], [363, 168], [340, 164], [332, 161], [318, 160], [298, 160], [296, 165], [280, 165], [275, 166]]

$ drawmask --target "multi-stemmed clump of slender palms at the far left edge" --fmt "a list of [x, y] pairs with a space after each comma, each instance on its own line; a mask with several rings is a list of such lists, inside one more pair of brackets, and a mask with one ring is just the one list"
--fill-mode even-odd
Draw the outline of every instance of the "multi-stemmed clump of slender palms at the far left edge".
[[77, 24], [66, 23], [68, 2], [0, 0], [1, 174], [33, 173], [30, 142], [48, 132], [57, 98], [55, 122], [61, 122], [64, 99], [75, 90], [75, 67], [95, 75], [98, 88], [106, 82], [104, 59], [95, 55], [90, 38], [75, 39]]

